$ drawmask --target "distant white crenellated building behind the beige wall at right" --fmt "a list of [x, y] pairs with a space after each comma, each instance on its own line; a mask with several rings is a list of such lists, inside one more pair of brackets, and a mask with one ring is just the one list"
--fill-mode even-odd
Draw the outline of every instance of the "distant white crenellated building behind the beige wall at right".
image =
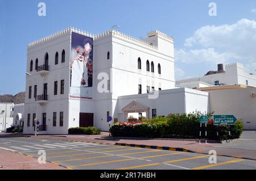
[[223, 85], [247, 85], [256, 87], [256, 76], [245, 73], [242, 64], [227, 64], [225, 70], [223, 65], [218, 65], [217, 71], [209, 71], [201, 77], [179, 79], [176, 81], [176, 87], [187, 87], [198, 89], [201, 87], [223, 86]]

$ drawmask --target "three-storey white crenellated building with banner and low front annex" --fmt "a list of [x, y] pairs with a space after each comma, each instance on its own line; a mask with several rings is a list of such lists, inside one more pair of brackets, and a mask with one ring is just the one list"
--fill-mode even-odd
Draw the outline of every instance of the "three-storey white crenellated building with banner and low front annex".
[[126, 121], [132, 112], [207, 112], [208, 92], [175, 89], [172, 37], [147, 36], [67, 28], [29, 44], [23, 133], [34, 133], [35, 118], [40, 134], [67, 134], [90, 125], [108, 131], [108, 116]]

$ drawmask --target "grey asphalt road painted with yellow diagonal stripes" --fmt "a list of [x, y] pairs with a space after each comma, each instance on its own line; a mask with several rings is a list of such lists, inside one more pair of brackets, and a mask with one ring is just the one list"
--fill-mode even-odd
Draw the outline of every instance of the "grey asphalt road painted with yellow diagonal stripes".
[[39, 157], [39, 150], [45, 150], [47, 161], [70, 169], [256, 170], [256, 161], [247, 159], [218, 156], [217, 164], [209, 164], [210, 155], [89, 142], [0, 137], [0, 149], [23, 153], [36, 158]]

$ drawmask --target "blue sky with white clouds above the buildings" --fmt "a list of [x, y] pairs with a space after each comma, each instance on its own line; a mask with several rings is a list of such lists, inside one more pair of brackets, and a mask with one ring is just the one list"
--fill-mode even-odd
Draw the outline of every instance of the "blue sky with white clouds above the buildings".
[[[38, 16], [39, 2], [46, 16]], [[210, 2], [217, 16], [209, 16]], [[24, 91], [27, 44], [67, 27], [100, 33], [118, 24], [134, 37], [151, 30], [174, 36], [176, 78], [203, 75], [220, 62], [255, 73], [255, 18], [254, 0], [0, 0], [0, 90]]]

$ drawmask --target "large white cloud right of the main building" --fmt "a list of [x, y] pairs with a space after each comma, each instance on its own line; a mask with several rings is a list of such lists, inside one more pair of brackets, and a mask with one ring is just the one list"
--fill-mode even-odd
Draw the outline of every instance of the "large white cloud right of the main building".
[[256, 22], [241, 19], [234, 24], [201, 27], [185, 40], [183, 48], [175, 50], [175, 58], [189, 64], [240, 62], [256, 69]]

